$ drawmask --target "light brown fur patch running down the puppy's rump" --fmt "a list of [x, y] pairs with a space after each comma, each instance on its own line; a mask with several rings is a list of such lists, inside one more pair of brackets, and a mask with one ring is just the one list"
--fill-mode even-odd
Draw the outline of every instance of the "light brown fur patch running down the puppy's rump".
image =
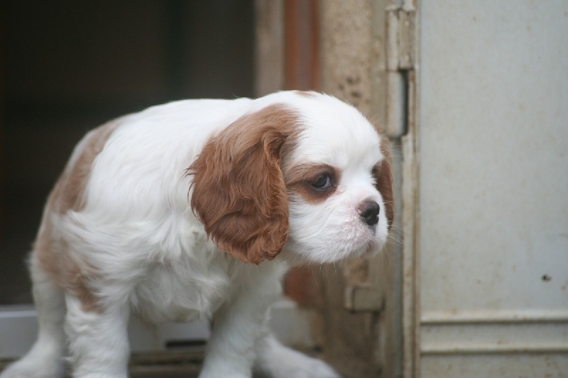
[[[42, 226], [34, 243], [35, 258], [51, 279], [62, 289], [71, 291], [82, 304], [83, 311], [100, 312], [97, 297], [89, 289], [89, 279], [94, 277], [92, 267], [79, 260], [77, 254], [53, 226], [53, 216], [84, 208], [84, 191], [94, 159], [104, 148], [122, 118], [100, 126], [87, 134], [77, 150], [74, 162], [67, 163], [65, 171], [48, 197]], [[80, 148], [77, 147], [77, 148]]]

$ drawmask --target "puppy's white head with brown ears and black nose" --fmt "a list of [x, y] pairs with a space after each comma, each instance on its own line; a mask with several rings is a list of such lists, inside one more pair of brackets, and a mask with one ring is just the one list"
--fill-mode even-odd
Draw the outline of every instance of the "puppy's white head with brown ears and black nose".
[[265, 96], [189, 167], [191, 206], [219, 249], [244, 262], [366, 255], [393, 222], [387, 143], [334, 97]]

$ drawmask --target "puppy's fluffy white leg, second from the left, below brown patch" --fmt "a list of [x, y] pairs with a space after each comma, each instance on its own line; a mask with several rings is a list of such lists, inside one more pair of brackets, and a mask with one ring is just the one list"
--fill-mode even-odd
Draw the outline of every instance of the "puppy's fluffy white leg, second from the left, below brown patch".
[[128, 377], [129, 306], [111, 304], [85, 311], [72, 294], [66, 294], [65, 303], [65, 331], [69, 338], [73, 377]]

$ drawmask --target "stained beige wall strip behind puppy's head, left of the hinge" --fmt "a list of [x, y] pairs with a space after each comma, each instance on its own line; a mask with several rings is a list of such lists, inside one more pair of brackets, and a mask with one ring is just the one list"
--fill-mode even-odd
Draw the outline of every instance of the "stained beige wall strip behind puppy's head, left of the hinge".
[[[356, 106], [381, 128], [385, 70], [383, 12], [388, 1], [322, 1], [322, 91]], [[395, 141], [396, 142], [396, 141]], [[396, 148], [393, 148], [395, 151]], [[398, 220], [396, 221], [398, 223]], [[320, 330], [327, 360], [346, 377], [400, 374], [400, 243], [369, 260], [353, 260], [314, 272], [318, 279]], [[398, 245], [397, 245], [398, 243]], [[345, 307], [346, 288], [371, 287], [371, 311]]]

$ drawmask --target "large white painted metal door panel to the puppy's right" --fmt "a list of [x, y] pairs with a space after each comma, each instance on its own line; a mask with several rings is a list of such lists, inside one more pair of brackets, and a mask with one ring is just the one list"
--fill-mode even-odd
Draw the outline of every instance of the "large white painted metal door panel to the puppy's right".
[[568, 1], [420, 8], [422, 373], [568, 371]]

